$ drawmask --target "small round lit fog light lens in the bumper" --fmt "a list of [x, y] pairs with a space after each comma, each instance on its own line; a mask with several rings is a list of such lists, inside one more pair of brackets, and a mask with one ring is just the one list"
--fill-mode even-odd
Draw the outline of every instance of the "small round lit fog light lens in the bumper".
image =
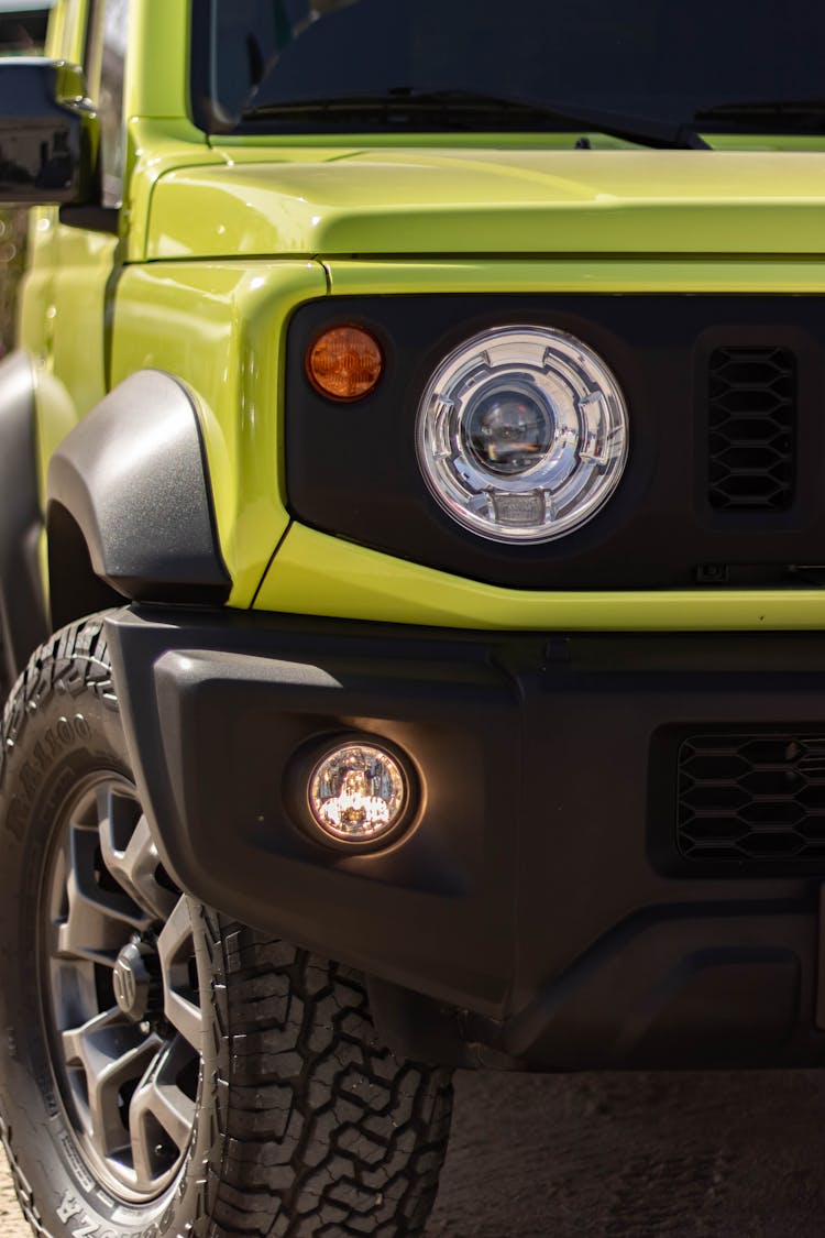
[[340, 842], [390, 834], [404, 816], [409, 789], [401, 764], [375, 744], [346, 743], [327, 753], [309, 776], [309, 811]]

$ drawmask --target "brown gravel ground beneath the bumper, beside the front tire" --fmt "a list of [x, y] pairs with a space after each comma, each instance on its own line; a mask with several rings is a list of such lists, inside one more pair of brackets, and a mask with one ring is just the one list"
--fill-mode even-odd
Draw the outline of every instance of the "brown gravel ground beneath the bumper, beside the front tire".
[[459, 1075], [427, 1238], [824, 1238], [824, 1113], [814, 1071]]

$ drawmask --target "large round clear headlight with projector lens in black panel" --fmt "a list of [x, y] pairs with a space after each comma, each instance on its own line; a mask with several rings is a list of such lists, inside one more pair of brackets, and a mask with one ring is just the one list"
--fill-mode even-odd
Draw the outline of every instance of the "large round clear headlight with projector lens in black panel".
[[591, 520], [627, 461], [607, 365], [544, 327], [482, 332], [447, 357], [418, 410], [418, 462], [438, 503], [496, 541], [550, 541]]

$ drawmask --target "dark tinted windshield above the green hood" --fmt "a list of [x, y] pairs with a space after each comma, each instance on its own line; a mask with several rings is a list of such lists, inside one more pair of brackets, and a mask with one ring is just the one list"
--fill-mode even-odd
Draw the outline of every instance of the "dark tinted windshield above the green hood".
[[193, 0], [193, 31], [208, 131], [825, 132], [811, 0]]

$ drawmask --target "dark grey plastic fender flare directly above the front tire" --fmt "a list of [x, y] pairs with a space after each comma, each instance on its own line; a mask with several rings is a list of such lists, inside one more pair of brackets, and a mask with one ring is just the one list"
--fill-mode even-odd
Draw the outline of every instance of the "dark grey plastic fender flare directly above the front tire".
[[161, 370], [132, 374], [61, 443], [46, 519], [56, 626], [100, 608], [100, 581], [146, 602], [229, 597], [194, 400]]

